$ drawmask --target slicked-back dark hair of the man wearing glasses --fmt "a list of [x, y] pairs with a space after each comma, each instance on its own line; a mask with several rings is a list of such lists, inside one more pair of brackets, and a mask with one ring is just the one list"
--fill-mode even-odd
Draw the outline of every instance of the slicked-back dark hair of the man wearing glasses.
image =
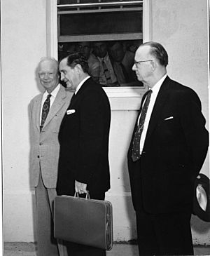
[[160, 43], [150, 41], [142, 43], [141, 46], [151, 46], [151, 55], [158, 59], [162, 66], [166, 67], [168, 65], [169, 57], [167, 51]]

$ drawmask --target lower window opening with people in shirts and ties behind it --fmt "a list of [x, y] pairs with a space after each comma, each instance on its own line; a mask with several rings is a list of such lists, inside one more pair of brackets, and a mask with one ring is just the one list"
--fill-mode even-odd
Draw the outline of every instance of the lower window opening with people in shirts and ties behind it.
[[87, 58], [89, 74], [104, 87], [143, 86], [132, 71], [137, 41], [83, 41], [58, 44], [59, 60], [75, 52]]

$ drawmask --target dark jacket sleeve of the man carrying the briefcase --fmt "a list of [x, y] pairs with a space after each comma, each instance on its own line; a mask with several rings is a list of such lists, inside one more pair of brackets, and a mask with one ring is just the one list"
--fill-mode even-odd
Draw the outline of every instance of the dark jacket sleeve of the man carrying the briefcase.
[[90, 182], [103, 151], [106, 105], [99, 92], [88, 91], [80, 104], [80, 135], [76, 159], [76, 180]]

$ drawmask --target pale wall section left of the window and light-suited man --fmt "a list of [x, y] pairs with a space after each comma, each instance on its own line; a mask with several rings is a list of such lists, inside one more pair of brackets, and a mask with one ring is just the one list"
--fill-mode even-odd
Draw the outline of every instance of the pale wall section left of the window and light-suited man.
[[46, 54], [45, 1], [1, 1], [1, 27], [4, 238], [34, 241], [28, 105], [39, 93], [35, 68]]

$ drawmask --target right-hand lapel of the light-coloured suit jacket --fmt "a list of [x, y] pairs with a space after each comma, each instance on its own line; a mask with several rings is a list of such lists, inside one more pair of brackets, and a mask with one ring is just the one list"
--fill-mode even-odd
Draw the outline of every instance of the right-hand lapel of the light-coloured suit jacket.
[[47, 119], [45, 120], [43, 127], [45, 127], [53, 118], [53, 116], [55, 116], [55, 114], [59, 111], [59, 109], [62, 108], [62, 106], [65, 104], [65, 98], [66, 98], [66, 90], [64, 89], [63, 86], [60, 86], [59, 91], [55, 97], [52, 107], [50, 108], [50, 112], [47, 116]]

